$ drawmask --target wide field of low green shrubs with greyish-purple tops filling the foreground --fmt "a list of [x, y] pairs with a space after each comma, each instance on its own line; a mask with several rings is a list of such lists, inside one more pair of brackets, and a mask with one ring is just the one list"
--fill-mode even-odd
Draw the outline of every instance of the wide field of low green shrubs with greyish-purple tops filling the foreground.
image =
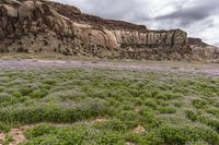
[[[0, 132], [35, 144], [219, 144], [219, 77], [92, 69], [1, 69]], [[104, 122], [92, 122], [97, 118]], [[143, 133], [135, 133], [137, 126]], [[9, 141], [12, 138], [9, 136]]]

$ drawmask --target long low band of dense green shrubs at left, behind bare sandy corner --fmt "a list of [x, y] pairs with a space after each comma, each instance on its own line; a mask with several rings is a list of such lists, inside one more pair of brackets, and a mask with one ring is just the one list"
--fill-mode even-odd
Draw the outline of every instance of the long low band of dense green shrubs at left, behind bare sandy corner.
[[74, 122], [110, 113], [108, 105], [101, 99], [84, 99], [72, 104], [35, 104], [0, 109], [0, 121], [9, 123]]

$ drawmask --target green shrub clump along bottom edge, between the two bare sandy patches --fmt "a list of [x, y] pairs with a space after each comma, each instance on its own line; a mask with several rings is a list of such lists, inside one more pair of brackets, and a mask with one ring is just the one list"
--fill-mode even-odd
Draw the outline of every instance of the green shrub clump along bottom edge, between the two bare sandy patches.
[[125, 144], [124, 136], [119, 133], [93, 130], [92, 128], [88, 128], [87, 125], [77, 125], [72, 128], [36, 126], [32, 130], [28, 130], [26, 134], [27, 136], [33, 137], [32, 141], [26, 143], [26, 145]]

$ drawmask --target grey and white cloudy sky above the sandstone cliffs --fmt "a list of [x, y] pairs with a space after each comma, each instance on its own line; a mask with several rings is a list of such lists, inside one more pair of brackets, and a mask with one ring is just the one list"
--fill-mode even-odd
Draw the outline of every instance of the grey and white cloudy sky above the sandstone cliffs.
[[56, 0], [82, 12], [148, 28], [182, 28], [189, 36], [219, 46], [219, 0]]

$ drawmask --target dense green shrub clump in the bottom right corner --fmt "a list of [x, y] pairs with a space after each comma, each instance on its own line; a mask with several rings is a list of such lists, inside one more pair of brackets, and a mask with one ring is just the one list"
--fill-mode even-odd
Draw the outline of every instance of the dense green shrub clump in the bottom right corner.
[[[184, 145], [189, 142], [205, 141], [209, 144], [219, 143], [219, 134], [204, 124], [163, 124], [158, 130], [147, 135], [149, 137], [162, 138], [165, 144]], [[149, 138], [150, 140], [150, 138]]]

